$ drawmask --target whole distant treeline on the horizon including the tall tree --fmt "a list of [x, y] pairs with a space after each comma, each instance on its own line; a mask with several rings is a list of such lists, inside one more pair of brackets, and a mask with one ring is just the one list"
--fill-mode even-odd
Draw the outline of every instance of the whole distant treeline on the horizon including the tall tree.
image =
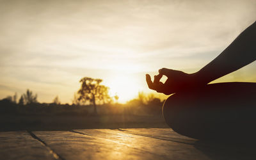
[[72, 104], [61, 104], [56, 96], [52, 103], [40, 103], [37, 95], [26, 90], [18, 100], [17, 93], [0, 100], [1, 115], [159, 115], [163, 101], [154, 94], [138, 93], [136, 99], [118, 104], [118, 95], [111, 97], [109, 88], [102, 85], [102, 79], [83, 77], [81, 88], [74, 94]]

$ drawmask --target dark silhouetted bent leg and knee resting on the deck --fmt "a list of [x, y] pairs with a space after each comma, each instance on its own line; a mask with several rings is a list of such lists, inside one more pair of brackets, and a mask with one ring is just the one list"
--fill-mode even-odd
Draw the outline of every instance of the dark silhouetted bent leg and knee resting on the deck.
[[196, 139], [254, 138], [256, 83], [215, 83], [175, 93], [163, 106], [166, 123]]

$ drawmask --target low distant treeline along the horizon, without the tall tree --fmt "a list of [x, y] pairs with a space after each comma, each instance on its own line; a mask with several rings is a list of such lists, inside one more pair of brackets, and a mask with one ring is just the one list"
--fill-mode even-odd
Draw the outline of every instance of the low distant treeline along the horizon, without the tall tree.
[[[103, 102], [97, 105], [99, 115], [159, 115], [163, 101], [154, 97], [153, 94], [145, 95], [138, 93], [136, 99], [130, 100], [126, 104], [118, 104], [114, 101]], [[52, 103], [39, 103], [37, 95], [33, 95], [27, 90], [19, 100], [17, 93], [0, 100], [1, 115], [95, 115], [93, 104], [81, 104], [73, 100], [73, 104], [61, 104], [58, 96]]]

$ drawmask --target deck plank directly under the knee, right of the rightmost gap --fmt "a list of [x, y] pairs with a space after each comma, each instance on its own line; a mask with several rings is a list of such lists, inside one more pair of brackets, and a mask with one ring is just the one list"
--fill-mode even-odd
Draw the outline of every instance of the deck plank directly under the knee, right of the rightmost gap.
[[256, 156], [254, 143], [237, 143], [236, 140], [232, 142], [224, 141], [199, 141], [193, 138], [182, 136], [172, 129], [122, 129], [124, 132], [131, 134], [138, 134], [141, 136], [149, 136], [152, 138], [159, 138], [161, 140], [175, 140], [194, 145], [198, 150], [202, 150], [210, 157], [217, 159], [253, 159]]

